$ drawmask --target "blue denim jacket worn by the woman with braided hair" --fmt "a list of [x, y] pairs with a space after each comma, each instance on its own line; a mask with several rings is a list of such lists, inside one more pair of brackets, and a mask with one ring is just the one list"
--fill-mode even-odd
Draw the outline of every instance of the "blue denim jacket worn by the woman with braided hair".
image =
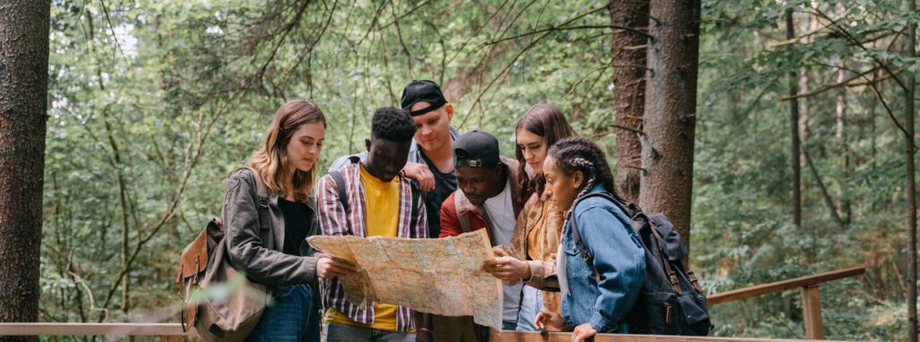
[[[590, 192], [602, 191], [599, 184]], [[592, 267], [572, 239], [572, 220], [594, 256]], [[563, 229], [569, 291], [562, 293], [561, 306], [566, 325], [589, 323], [599, 333], [627, 333], [626, 315], [645, 281], [645, 252], [629, 218], [610, 200], [592, 197], [577, 203]]]

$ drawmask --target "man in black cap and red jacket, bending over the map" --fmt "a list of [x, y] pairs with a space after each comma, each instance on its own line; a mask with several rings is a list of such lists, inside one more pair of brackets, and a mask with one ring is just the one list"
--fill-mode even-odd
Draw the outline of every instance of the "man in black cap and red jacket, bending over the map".
[[[439, 237], [486, 229], [492, 245], [509, 245], [521, 211], [513, 200], [517, 198], [517, 166], [516, 161], [500, 156], [499, 141], [487, 132], [471, 131], [457, 138], [454, 169], [459, 189], [443, 201]], [[521, 287], [520, 281], [504, 286], [503, 330], [514, 330], [517, 325]], [[444, 321], [449, 323], [441, 324]], [[435, 316], [434, 340], [470, 341], [471, 330], [482, 332], [473, 326], [472, 317]]]

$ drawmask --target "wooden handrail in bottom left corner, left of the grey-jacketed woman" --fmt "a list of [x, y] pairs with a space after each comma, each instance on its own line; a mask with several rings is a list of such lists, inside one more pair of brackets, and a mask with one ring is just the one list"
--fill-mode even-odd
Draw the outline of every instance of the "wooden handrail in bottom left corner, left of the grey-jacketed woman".
[[0, 336], [185, 336], [178, 323], [0, 323]]

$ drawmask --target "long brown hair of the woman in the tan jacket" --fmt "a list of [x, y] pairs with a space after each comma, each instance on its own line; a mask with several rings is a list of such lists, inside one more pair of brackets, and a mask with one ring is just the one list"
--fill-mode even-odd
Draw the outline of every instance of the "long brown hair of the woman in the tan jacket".
[[[575, 131], [572, 130], [569, 121], [566, 120], [566, 116], [562, 114], [562, 111], [556, 108], [556, 106], [548, 103], [536, 104], [524, 113], [523, 117], [518, 120], [517, 126], [514, 127], [515, 137], [517, 136], [517, 131], [522, 129], [543, 137], [546, 151], [549, 151], [549, 147], [554, 143], [577, 135]], [[543, 193], [543, 188], [546, 185], [546, 178], [543, 177], [543, 175], [527, 177], [527, 161], [523, 158], [521, 146], [516, 142], [514, 143], [514, 156], [518, 160], [518, 188], [521, 189], [518, 191], [518, 198], [516, 200], [519, 205], [523, 206], [523, 204], [527, 202], [527, 199], [530, 199], [532, 194]]]

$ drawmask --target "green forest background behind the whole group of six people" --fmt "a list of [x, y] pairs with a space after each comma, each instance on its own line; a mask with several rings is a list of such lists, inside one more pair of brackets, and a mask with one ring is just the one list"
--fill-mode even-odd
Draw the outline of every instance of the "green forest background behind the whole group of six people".
[[[615, 73], [647, 68], [615, 60], [645, 52], [616, 34], [648, 30], [617, 20], [656, 19], [617, 3], [53, 0], [40, 320], [135, 320], [175, 304], [179, 250], [219, 215], [224, 179], [286, 100], [326, 113], [325, 165], [362, 150], [374, 108], [432, 79], [456, 108], [454, 127], [495, 134], [506, 156], [516, 120], [547, 101], [619, 174], [638, 169], [638, 155], [616, 162], [616, 135], [641, 129], [617, 123], [628, 109], [614, 95], [639, 85]], [[898, 77], [920, 65], [905, 52], [920, 17], [891, 0], [700, 8], [687, 187], [704, 287], [865, 266], [865, 277], [822, 286], [825, 336], [905, 340], [907, 165], [895, 114]], [[800, 337], [799, 305], [789, 291], [714, 306], [714, 333]]]

